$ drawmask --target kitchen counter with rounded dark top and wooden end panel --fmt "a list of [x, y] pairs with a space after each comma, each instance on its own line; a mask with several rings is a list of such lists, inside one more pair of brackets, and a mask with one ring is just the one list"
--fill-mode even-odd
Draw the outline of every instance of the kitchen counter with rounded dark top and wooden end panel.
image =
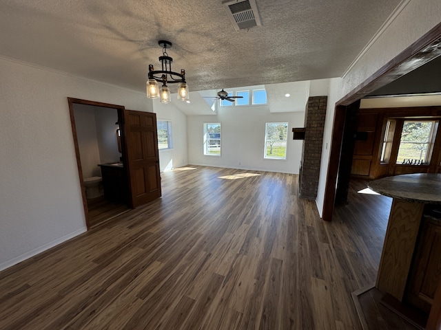
[[376, 287], [402, 301], [418, 247], [427, 204], [441, 204], [441, 174], [405, 174], [368, 184], [371, 190], [392, 197], [391, 212], [378, 267]]

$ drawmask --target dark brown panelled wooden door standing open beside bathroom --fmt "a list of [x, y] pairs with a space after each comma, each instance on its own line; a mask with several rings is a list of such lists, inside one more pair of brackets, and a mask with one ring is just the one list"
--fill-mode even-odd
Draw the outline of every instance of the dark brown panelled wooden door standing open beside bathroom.
[[132, 207], [161, 197], [156, 113], [124, 110], [127, 171]]

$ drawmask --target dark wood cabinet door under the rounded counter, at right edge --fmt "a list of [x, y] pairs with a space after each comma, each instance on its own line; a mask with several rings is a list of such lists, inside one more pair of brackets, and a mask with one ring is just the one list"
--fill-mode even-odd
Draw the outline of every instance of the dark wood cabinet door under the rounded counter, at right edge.
[[407, 283], [407, 302], [429, 314], [441, 276], [441, 225], [424, 218]]

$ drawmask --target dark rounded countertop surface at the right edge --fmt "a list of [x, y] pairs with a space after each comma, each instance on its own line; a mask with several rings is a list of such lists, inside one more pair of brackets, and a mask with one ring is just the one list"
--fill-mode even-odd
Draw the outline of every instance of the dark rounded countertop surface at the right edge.
[[395, 175], [371, 181], [367, 186], [384, 196], [417, 203], [441, 204], [441, 174]]

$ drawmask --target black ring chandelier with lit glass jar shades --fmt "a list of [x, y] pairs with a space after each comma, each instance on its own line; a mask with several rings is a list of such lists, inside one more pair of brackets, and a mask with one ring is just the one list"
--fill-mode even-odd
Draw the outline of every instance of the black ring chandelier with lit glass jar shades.
[[[163, 47], [163, 56], [159, 56], [162, 69], [155, 70], [153, 65], [149, 65], [149, 73], [147, 79], [147, 98], [159, 98], [161, 102], [170, 102], [170, 89], [167, 84], [178, 84], [178, 100], [188, 101], [188, 86], [185, 83], [185, 70], [181, 69], [181, 73], [172, 72], [173, 58], [168, 56], [167, 48], [172, 47], [170, 41], [161, 40], [158, 44]], [[158, 83], [162, 83], [161, 88]]]

